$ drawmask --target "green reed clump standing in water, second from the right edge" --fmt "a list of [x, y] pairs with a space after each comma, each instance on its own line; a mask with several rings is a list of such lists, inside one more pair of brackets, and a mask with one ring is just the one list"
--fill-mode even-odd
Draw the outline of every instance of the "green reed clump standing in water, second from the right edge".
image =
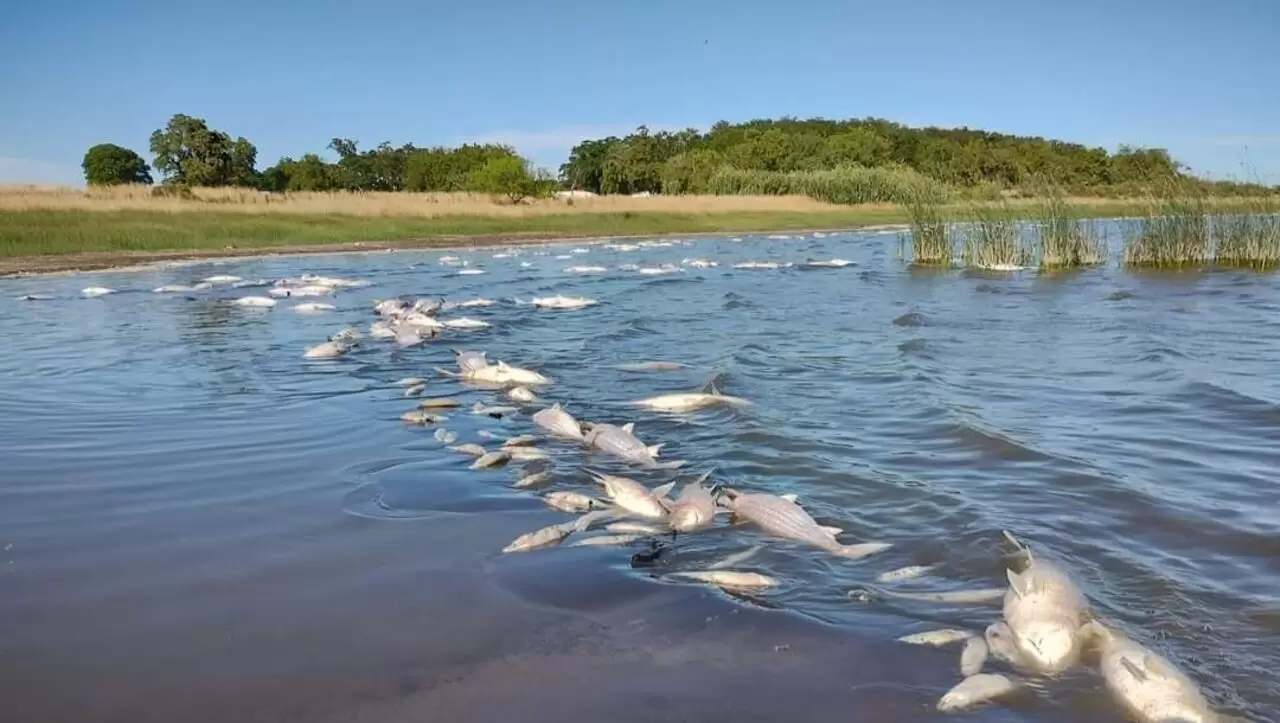
[[1203, 193], [1189, 184], [1157, 188], [1125, 241], [1125, 266], [1189, 269], [1211, 262], [1210, 210]]

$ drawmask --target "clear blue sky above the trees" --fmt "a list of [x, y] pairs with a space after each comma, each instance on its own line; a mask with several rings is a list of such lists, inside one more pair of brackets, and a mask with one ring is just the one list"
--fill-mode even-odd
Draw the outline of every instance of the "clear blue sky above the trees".
[[1280, 183], [1280, 0], [13, 3], [0, 182], [78, 182], [174, 113], [259, 166], [334, 136], [498, 139], [557, 166], [584, 137], [874, 115], [1115, 148]]

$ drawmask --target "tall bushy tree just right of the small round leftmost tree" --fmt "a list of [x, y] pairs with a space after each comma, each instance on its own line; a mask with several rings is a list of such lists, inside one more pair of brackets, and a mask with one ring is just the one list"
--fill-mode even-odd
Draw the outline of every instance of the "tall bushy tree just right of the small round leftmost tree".
[[155, 168], [178, 186], [255, 186], [257, 148], [212, 131], [202, 118], [175, 114], [151, 134]]

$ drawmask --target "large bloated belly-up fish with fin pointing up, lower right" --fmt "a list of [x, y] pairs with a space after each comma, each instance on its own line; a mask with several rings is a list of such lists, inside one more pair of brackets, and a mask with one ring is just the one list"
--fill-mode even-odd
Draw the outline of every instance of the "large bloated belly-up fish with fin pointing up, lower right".
[[1027, 557], [1023, 572], [1005, 571], [1009, 577], [1005, 622], [1019, 651], [1038, 672], [1061, 673], [1080, 659], [1084, 595], [1062, 568], [1033, 557], [1009, 532], [1005, 536]]

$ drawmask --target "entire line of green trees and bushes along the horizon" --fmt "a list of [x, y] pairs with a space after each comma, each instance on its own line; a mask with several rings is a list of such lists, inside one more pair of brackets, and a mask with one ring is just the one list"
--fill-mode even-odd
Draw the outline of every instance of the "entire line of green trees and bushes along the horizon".
[[[248, 139], [233, 139], [204, 119], [182, 114], [151, 134], [150, 150], [166, 187], [472, 191], [512, 202], [549, 195], [557, 187], [602, 195], [790, 193], [822, 187], [827, 189], [822, 196], [832, 198], [896, 198], [896, 188], [919, 186], [916, 179], [978, 197], [1046, 183], [1082, 195], [1129, 195], [1171, 182], [1221, 193], [1262, 189], [1196, 179], [1164, 148], [1121, 146], [1110, 152], [1039, 137], [911, 128], [876, 118], [719, 122], [705, 133], [692, 128], [650, 132], [641, 125], [621, 138], [582, 141], [558, 178], [504, 145], [447, 148], [384, 142], [362, 151], [349, 138], [329, 143], [337, 160], [307, 154], [257, 170], [257, 148]], [[90, 148], [83, 168], [91, 186], [152, 183], [151, 166], [141, 156], [110, 143]]]

